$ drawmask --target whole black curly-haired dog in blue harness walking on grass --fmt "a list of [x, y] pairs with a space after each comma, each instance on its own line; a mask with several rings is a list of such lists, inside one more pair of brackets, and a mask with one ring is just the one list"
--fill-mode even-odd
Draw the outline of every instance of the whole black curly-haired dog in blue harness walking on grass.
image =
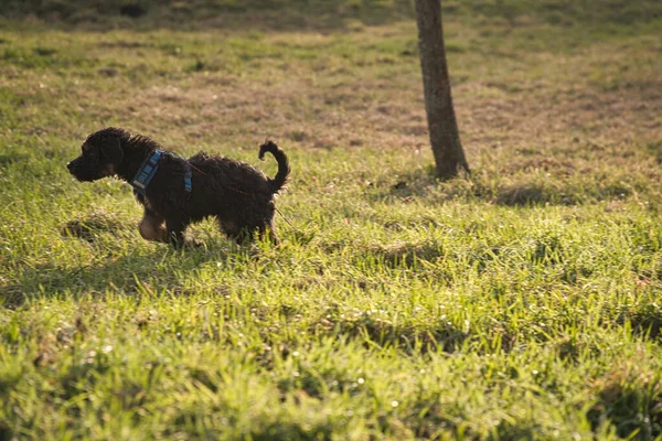
[[244, 162], [200, 152], [186, 159], [161, 150], [156, 141], [109, 127], [92, 133], [83, 153], [66, 168], [78, 181], [117, 176], [134, 186], [145, 206], [140, 235], [181, 247], [191, 223], [215, 216], [221, 229], [237, 243], [266, 234], [274, 243], [274, 195], [290, 173], [287, 157], [274, 142], [259, 149], [278, 162], [274, 179]]

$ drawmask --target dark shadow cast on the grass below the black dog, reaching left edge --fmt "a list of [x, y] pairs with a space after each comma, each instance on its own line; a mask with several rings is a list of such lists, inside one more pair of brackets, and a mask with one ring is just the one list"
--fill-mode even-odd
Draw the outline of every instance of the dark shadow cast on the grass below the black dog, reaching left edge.
[[[258, 255], [255, 248], [239, 247], [221, 238], [182, 250], [153, 244], [121, 255], [96, 246], [96, 243], [103, 243], [104, 235], [119, 237], [126, 232], [120, 223], [99, 216], [67, 222], [61, 229], [62, 236], [99, 248], [97, 256], [79, 266], [54, 261], [24, 266], [12, 281], [0, 284], [4, 294], [0, 308], [15, 309], [43, 298], [103, 298], [109, 292], [131, 295], [146, 289], [177, 290], [182, 284], [181, 275], [194, 271], [205, 262], [226, 265], [229, 260], [255, 260]], [[150, 283], [156, 286], [149, 288]]]

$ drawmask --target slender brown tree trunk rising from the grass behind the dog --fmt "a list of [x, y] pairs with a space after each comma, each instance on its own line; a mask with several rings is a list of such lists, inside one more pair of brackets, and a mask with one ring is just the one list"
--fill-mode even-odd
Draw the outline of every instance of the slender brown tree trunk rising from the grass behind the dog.
[[450, 179], [458, 175], [460, 168], [469, 173], [469, 164], [450, 96], [440, 0], [416, 0], [416, 21], [425, 108], [437, 176]]

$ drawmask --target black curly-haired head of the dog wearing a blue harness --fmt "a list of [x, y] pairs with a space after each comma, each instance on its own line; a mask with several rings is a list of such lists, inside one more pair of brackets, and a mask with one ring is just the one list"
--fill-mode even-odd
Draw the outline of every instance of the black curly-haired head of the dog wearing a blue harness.
[[121, 141], [128, 138], [128, 132], [114, 127], [96, 131], [81, 146], [81, 155], [66, 168], [78, 181], [113, 176], [124, 159]]

